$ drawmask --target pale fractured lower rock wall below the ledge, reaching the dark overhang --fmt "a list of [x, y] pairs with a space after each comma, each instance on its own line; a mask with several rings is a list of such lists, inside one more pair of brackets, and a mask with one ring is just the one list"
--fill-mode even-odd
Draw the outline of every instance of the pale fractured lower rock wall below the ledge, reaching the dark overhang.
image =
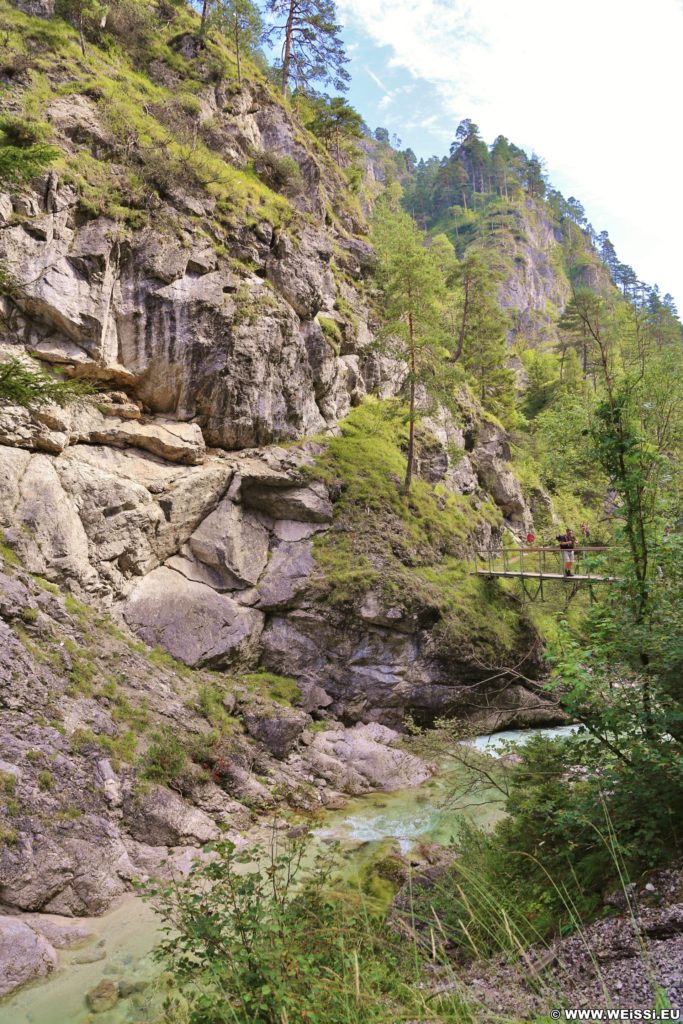
[[[293, 677], [307, 712], [398, 728], [409, 710], [494, 728], [533, 720], [521, 688], [506, 691], [504, 707], [486, 694], [482, 713], [471, 689], [480, 674], [465, 650], [447, 662], [436, 651], [433, 610], [421, 618], [372, 591], [350, 611], [327, 604], [314, 543], [334, 528], [334, 505], [311, 477], [318, 442], [206, 450], [195, 424], [124, 420], [110, 415], [121, 409], [115, 398], [103, 412], [89, 401], [5, 409], [0, 528], [30, 571], [188, 666]], [[492, 498], [508, 528], [525, 528], [503, 431], [482, 421], [472, 445], [444, 413], [427, 427], [420, 472]], [[489, 539], [490, 527], [480, 541]]]

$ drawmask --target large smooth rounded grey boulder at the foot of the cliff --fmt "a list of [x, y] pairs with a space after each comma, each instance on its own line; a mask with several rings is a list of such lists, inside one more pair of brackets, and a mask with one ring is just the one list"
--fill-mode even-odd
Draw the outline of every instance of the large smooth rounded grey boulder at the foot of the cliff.
[[124, 614], [145, 643], [193, 666], [249, 662], [263, 629], [261, 612], [166, 566], [141, 581]]

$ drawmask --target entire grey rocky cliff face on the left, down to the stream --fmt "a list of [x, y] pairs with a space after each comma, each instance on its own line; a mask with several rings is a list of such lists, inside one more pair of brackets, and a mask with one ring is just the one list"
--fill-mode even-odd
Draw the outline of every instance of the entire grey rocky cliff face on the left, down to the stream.
[[[173, 46], [202, 69], [196, 40]], [[67, 170], [0, 195], [0, 359], [97, 393], [0, 406], [0, 903], [74, 914], [255, 808], [420, 781], [394, 745], [407, 712], [482, 730], [554, 713], [486, 681], [485, 622], [443, 639], [459, 614], [443, 589], [389, 593], [391, 546], [373, 550], [362, 507], [341, 511], [347, 481], [322, 471], [326, 436], [400, 376], [373, 349], [373, 252], [339, 171], [264, 84], [202, 81], [198, 130], [239, 172], [231, 205], [194, 178], [146, 193], [141, 217], [93, 211], [79, 166], [143, 174], [148, 157], [65, 53], [43, 114]], [[173, 67], [153, 63], [155, 102]], [[15, 79], [8, 110], [31, 88]], [[289, 196], [255, 183], [259, 159]], [[425, 418], [424, 500], [462, 503], [463, 525], [423, 561], [528, 526], [509, 457], [471, 401]], [[355, 530], [372, 579], [333, 600], [321, 552]], [[536, 635], [504, 612], [532, 674]]]

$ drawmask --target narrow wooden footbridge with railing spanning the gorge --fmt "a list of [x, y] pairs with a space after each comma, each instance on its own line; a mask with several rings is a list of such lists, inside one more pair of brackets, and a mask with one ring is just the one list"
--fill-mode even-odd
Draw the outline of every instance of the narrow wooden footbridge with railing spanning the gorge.
[[559, 547], [524, 547], [498, 545], [485, 551], [473, 551], [470, 575], [485, 579], [518, 580], [530, 600], [544, 597], [544, 585], [560, 583], [575, 591], [588, 587], [593, 596], [594, 584], [620, 584], [622, 580], [610, 571], [610, 549], [583, 547], [573, 549], [573, 567], [567, 575], [563, 552]]

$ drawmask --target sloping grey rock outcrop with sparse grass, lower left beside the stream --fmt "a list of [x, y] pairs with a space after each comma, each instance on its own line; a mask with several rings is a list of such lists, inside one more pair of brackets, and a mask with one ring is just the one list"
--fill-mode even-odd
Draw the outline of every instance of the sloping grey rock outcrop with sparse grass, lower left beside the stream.
[[0, 570], [0, 905], [28, 914], [22, 971], [6, 943], [12, 986], [83, 937], [43, 914], [100, 913], [135, 878], [186, 871], [203, 844], [242, 842], [251, 808], [392, 788], [403, 764], [404, 784], [429, 774], [390, 730], [345, 743], [335, 725], [321, 745], [292, 680], [281, 695], [278, 676], [185, 669], [54, 590]]

